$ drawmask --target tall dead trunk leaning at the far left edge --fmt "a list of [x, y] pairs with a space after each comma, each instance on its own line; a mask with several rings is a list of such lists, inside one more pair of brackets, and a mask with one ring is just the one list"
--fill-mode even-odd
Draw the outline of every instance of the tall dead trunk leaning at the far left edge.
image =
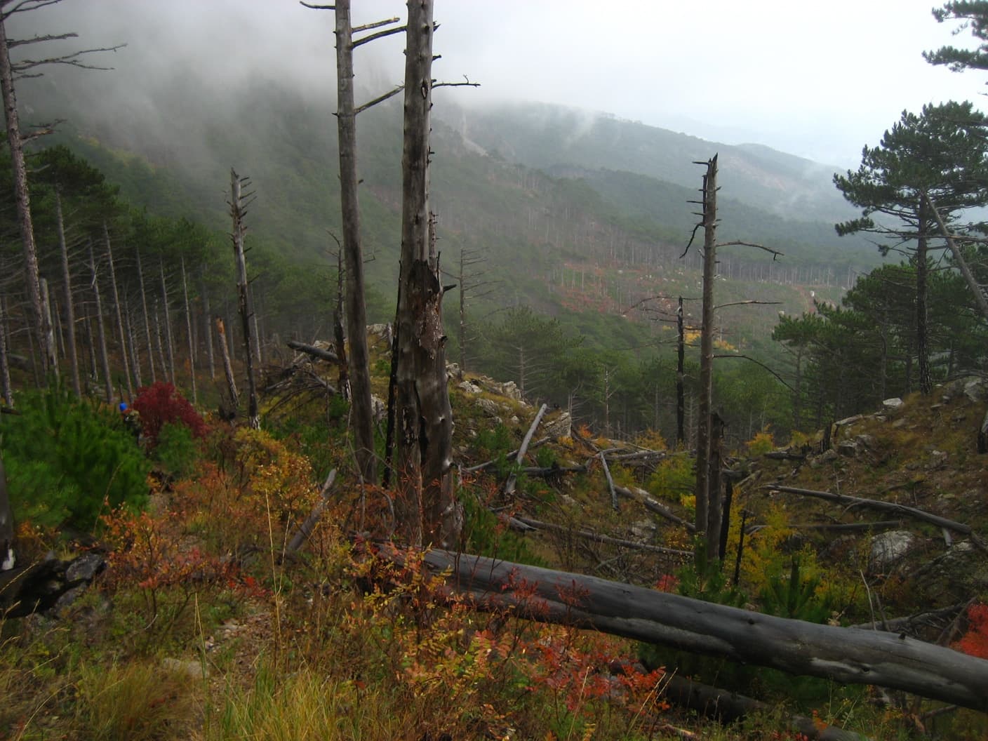
[[14, 201], [17, 222], [24, 247], [25, 275], [28, 284], [28, 300], [31, 303], [35, 334], [41, 343], [41, 383], [45, 383], [49, 371], [54, 368], [54, 347], [50, 342], [50, 321], [41, 307], [41, 273], [38, 268], [38, 248], [35, 245], [35, 227], [31, 218], [31, 197], [28, 193], [28, 169], [24, 161], [24, 140], [17, 114], [17, 96], [14, 92], [14, 72], [7, 42], [6, 16], [0, 14], [0, 93], [3, 95], [4, 114], [7, 119], [7, 145], [10, 147], [14, 170]]

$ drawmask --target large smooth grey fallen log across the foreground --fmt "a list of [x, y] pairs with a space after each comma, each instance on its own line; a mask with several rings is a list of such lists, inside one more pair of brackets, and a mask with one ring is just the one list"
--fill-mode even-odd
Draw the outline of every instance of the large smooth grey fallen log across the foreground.
[[[385, 557], [400, 551], [382, 546]], [[988, 661], [905, 635], [819, 625], [583, 574], [429, 550], [424, 563], [482, 610], [573, 624], [693, 653], [874, 685], [988, 711]]]

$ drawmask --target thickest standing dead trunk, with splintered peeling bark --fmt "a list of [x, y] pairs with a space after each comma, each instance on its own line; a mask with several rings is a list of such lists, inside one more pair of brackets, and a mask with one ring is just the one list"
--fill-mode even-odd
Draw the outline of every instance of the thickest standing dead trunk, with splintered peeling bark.
[[409, 0], [402, 148], [398, 307], [398, 528], [409, 543], [459, 538], [451, 473], [453, 411], [447, 388], [439, 257], [430, 246], [429, 130], [432, 0]]

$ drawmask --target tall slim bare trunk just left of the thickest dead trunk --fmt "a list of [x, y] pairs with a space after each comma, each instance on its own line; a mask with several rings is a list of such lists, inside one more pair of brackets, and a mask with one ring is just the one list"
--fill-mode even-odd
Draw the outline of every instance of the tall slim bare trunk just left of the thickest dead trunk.
[[[349, 381], [357, 467], [365, 483], [377, 483], [373, 442], [371, 361], [364, 297], [364, 253], [357, 188], [357, 122], [354, 113], [354, 45], [350, 0], [336, 3], [337, 131], [340, 150], [340, 206], [343, 255], [347, 267], [347, 335], [350, 340]], [[431, 47], [431, 46], [430, 46]], [[342, 350], [342, 349], [341, 349]], [[343, 357], [341, 355], [341, 357]], [[341, 378], [340, 389], [345, 388]]]

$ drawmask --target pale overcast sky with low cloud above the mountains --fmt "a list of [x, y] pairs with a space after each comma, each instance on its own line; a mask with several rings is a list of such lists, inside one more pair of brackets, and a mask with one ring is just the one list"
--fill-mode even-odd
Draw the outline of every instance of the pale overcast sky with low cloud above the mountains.
[[[355, 23], [404, 16], [354, 0]], [[855, 166], [903, 109], [973, 100], [988, 74], [952, 73], [922, 51], [951, 38], [930, 0], [436, 0], [441, 79], [457, 100], [560, 103], [725, 143], [758, 142]], [[64, 0], [37, 12], [87, 45], [127, 41], [113, 63], [153, 71], [197, 60], [215, 74], [308, 76], [334, 88], [332, 14], [295, 0]], [[75, 15], [82, 14], [82, 15]], [[14, 34], [12, 34], [14, 36]], [[400, 37], [362, 47], [358, 83], [402, 79]], [[200, 61], [201, 60], [201, 61]], [[111, 73], [112, 74], [112, 73]], [[124, 76], [122, 75], [122, 80]], [[382, 87], [383, 86], [383, 87]], [[153, 85], [147, 85], [153, 90]]]

